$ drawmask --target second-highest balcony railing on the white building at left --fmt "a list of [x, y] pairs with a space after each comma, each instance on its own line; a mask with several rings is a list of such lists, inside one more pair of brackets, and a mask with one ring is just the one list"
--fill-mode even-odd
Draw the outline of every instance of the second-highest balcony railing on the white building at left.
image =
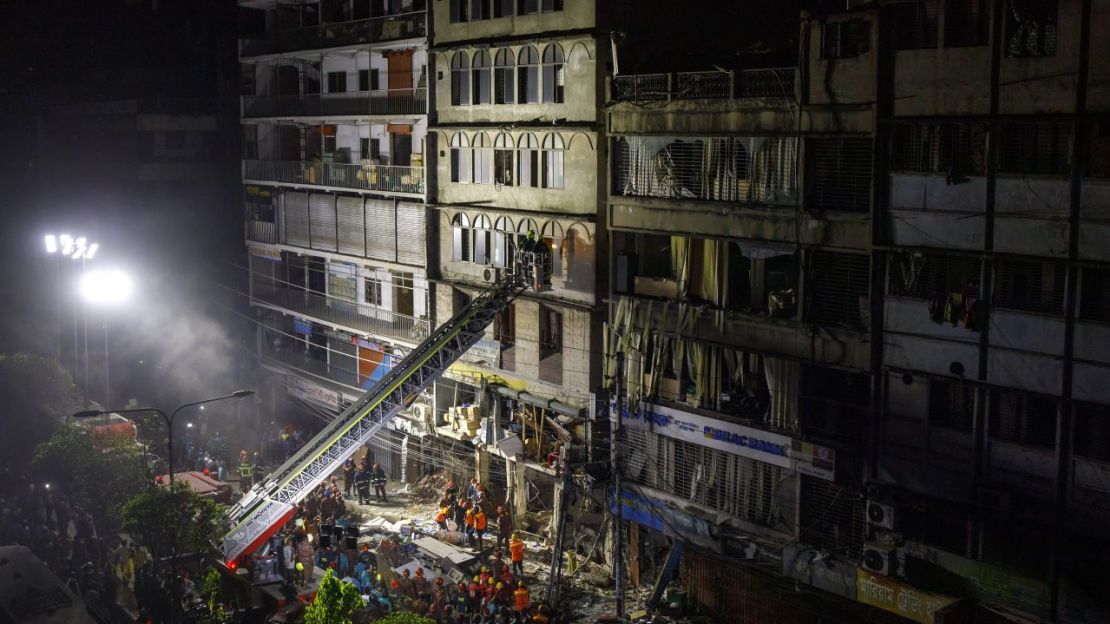
[[426, 111], [426, 89], [243, 97], [244, 118], [424, 114]]

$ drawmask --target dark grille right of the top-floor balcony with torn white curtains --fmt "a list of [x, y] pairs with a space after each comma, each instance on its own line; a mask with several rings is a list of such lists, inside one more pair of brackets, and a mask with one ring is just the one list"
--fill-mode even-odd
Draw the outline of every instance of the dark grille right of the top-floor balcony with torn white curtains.
[[810, 208], [868, 212], [871, 205], [871, 140], [811, 139]]

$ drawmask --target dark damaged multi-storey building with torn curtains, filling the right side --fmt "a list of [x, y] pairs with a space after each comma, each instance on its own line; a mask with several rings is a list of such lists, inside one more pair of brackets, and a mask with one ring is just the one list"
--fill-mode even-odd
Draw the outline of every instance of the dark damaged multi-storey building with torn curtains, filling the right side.
[[1110, 13], [848, 4], [786, 67], [612, 79], [634, 582], [677, 563], [720, 622], [1106, 621]]

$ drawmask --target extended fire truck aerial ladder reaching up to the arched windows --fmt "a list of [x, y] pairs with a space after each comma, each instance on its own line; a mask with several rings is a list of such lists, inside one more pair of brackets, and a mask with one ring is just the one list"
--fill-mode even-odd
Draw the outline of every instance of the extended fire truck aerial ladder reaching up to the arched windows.
[[513, 260], [512, 270], [436, 329], [390, 373], [228, 510], [231, 531], [223, 539], [222, 550], [229, 565], [254, 552], [276, 533], [292, 517], [297, 502], [411, 405], [482, 338], [485, 329], [524, 290], [542, 290], [551, 282], [551, 269], [543, 250], [523, 246], [514, 252]]

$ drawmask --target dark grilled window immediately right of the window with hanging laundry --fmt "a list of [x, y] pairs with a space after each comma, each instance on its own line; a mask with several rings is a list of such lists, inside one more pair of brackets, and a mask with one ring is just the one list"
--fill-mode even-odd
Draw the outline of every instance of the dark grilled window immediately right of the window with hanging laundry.
[[995, 268], [995, 293], [998, 308], [1047, 314], [1063, 313], [1063, 264], [1037, 260], [1008, 260]]

